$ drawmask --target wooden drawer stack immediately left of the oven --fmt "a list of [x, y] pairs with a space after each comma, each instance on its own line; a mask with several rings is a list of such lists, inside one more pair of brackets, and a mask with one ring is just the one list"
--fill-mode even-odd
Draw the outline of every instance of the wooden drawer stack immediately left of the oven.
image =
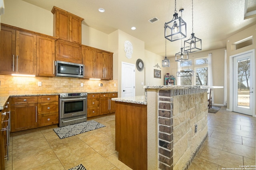
[[59, 123], [59, 97], [38, 96], [38, 127]]

